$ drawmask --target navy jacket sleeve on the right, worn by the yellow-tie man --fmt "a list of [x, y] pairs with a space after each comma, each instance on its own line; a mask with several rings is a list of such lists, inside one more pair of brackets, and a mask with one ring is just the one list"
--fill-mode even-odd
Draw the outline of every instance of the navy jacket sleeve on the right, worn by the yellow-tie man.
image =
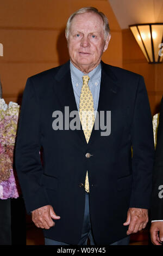
[[135, 97], [133, 124], [131, 127], [131, 143], [133, 146], [133, 187], [130, 207], [150, 209], [154, 138], [151, 109], [142, 76], [139, 78]]

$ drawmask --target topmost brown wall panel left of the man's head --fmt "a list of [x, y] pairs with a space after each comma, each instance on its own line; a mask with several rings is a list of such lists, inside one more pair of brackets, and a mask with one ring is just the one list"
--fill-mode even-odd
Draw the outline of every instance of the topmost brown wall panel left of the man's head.
[[65, 26], [65, 20], [70, 16], [71, 1], [1, 0], [0, 7], [0, 26], [2, 27], [60, 29]]

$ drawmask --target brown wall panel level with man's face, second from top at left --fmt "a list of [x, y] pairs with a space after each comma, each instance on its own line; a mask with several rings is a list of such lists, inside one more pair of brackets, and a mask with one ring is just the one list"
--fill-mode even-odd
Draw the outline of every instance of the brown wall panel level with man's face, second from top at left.
[[59, 62], [59, 45], [67, 50], [66, 39], [62, 43], [60, 34], [56, 30], [1, 29], [2, 62]]

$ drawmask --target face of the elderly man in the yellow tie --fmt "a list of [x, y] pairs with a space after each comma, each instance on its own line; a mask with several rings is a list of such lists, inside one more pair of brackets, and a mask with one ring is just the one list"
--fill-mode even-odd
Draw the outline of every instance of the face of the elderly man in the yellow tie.
[[89, 73], [107, 49], [110, 35], [104, 39], [104, 23], [96, 13], [76, 15], [71, 23], [68, 51], [75, 67]]

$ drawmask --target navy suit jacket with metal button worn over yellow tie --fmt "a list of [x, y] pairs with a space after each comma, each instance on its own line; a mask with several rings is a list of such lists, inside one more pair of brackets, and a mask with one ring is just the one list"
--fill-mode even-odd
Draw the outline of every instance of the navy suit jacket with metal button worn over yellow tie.
[[28, 78], [16, 141], [26, 209], [52, 205], [61, 218], [43, 230], [45, 236], [77, 245], [88, 170], [93, 236], [97, 245], [109, 245], [126, 236], [129, 207], [151, 204], [154, 142], [145, 83], [141, 75], [102, 62], [98, 111], [111, 111], [111, 134], [101, 136], [102, 130], [93, 127], [88, 144], [82, 129], [52, 129], [53, 111], [64, 116], [65, 106], [77, 110], [70, 62]]

